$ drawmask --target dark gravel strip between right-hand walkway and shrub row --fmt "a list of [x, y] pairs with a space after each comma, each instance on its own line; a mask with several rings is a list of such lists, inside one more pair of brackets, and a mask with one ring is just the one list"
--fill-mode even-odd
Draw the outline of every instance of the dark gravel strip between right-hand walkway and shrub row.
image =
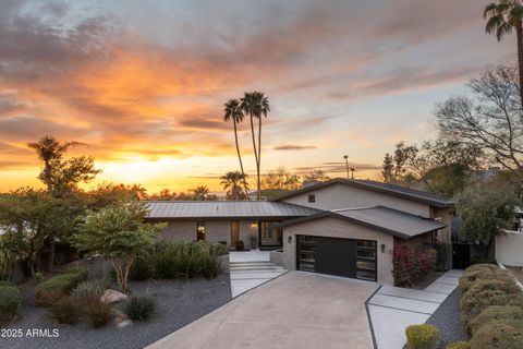
[[460, 298], [461, 290], [458, 287], [427, 321], [427, 324], [438, 327], [441, 332], [439, 345], [441, 349], [453, 341], [469, 340], [469, 336], [461, 327]]

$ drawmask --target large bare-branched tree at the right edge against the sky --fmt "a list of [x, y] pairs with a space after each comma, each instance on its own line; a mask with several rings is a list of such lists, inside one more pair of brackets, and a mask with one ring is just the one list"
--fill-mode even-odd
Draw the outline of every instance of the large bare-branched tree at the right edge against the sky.
[[513, 65], [488, 68], [469, 82], [472, 97], [455, 96], [436, 106], [436, 121], [443, 139], [485, 153], [523, 188], [523, 113], [518, 71]]

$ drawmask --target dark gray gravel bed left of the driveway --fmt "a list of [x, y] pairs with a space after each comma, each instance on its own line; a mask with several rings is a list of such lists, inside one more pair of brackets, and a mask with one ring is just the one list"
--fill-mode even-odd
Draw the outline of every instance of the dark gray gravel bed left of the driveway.
[[[99, 329], [87, 320], [75, 326], [60, 325], [46, 315], [45, 309], [34, 308], [31, 294], [26, 294], [21, 317], [0, 329], [0, 348], [144, 348], [231, 300], [229, 274], [210, 280], [148, 280], [130, 286], [135, 293], [149, 293], [156, 299], [157, 314], [153, 320], [122, 329], [112, 320]], [[58, 337], [53, 337], [57, 330]], [[13, 337], [17, 335], [21, 337]]]

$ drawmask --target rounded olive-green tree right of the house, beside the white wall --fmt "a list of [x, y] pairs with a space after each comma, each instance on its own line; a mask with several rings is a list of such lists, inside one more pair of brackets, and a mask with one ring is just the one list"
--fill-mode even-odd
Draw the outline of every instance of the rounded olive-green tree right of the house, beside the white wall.
[[488, 257], [494, 239], [513, 225], [516, 204], [512, 188], [475, 185], [457, 196], [460, 236], [478, 245], [482, 260]]

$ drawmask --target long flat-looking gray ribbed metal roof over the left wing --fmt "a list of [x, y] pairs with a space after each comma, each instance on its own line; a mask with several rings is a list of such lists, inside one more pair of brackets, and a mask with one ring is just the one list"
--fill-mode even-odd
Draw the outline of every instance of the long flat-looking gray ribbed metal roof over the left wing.
[[279, 218], [303, 217], [320, 212], [267, 201], [156, 201], [146, 203], [147, 218]]

